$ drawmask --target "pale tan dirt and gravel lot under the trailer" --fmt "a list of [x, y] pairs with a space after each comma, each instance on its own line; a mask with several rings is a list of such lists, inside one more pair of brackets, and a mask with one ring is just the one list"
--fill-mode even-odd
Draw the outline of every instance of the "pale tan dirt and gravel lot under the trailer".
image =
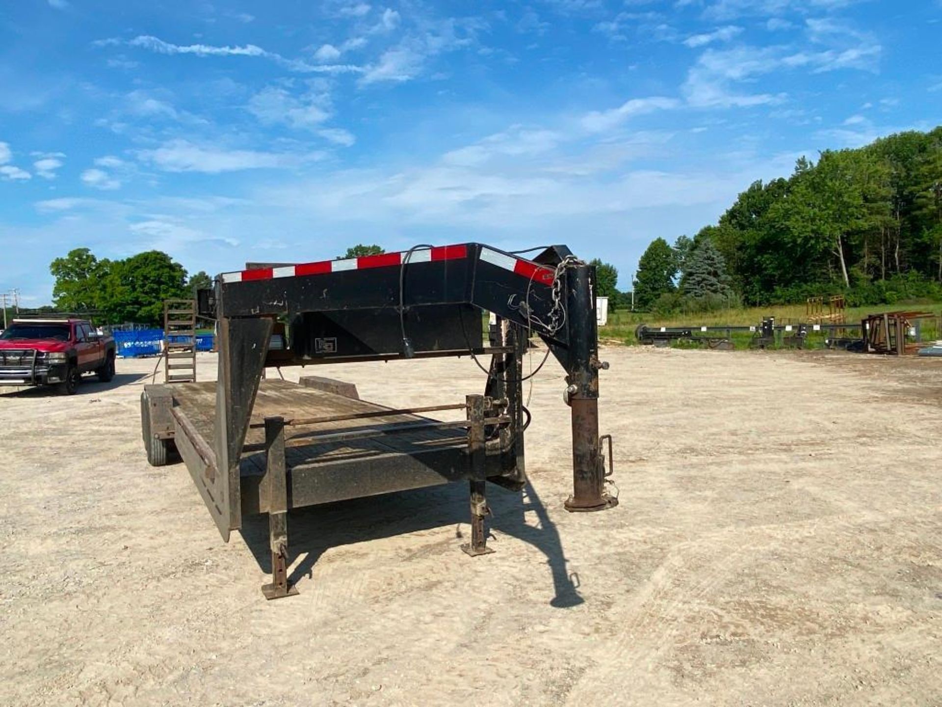
[[[147, 465], [154, 359], [73, 397], [0, 395], [0, 704], [942, 703], [942, 361], [604, 358], [617, 508], [562, 509], [547, 364], [531, 485], [489, 486], [495, 554], [459, 550], [464, 485], [302, 509], [300, 595], [272, 602], [267, 520], [224, 545], [187, 469]], [[314, 372], [395, 405], [483, 378], [468, 360]]]

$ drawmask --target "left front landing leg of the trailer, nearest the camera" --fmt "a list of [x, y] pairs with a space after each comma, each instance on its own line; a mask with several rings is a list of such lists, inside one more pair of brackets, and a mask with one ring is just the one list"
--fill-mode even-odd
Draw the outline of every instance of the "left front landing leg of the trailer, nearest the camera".
[[265, 444], [268, 461], [265, 484], [268, 486], [268, 543], [271, 546], [271, 584], [262, 585], [268, 600], [291, 597], [298, 589], [288, 584], [288, 489], [287, 463], [284, 459], [284, 418], [265, 419]]

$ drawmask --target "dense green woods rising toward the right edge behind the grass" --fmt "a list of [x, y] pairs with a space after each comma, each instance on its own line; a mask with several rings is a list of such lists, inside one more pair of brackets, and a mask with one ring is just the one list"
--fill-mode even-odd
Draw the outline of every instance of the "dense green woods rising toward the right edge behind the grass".
[[798, 159], [693, 238], [656, 238], [635, 285], [639, 308], [658, 310], [837, 293], [852, 305], [942, 297], [942, 126]]

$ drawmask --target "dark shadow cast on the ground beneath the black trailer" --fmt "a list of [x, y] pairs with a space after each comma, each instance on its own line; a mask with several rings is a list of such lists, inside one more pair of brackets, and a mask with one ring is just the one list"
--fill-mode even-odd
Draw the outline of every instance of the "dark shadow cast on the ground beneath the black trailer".
[[[522, 492], [513, 492], [489, 484], [487, 496], [493, 513], [488, 518], [489, 528], [523, 540], [544, 553], [555, 590], [550, 605], [568, 608], [583, 603], [577, 591], [578, 578], [574, 582], [574, 576], [566, 569], [560, 533], [533, 486], [528, 482]], [[311, 579], [317, 559], [330, 548], [447, 525], [455, 526], [456, 537], [470, 539], [469, 518], [466, 484], [399, 491], [293, 510], [288, 515], [288, 563], [289, 567], [298, 564], [289, 581]], [[241, 534], [258, 566], [270, 573], [268, 516], [245, 518]], [[457, 543], [453, 551], [461, 552]], [[475, 560], [468, 557], [467, 561]], [[303, 584], [300, 588], [303, 591]]]

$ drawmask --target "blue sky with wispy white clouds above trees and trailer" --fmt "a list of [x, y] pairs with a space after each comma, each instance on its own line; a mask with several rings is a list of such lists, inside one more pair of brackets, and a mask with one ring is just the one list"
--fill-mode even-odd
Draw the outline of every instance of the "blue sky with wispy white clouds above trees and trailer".
[[939, 0], [0, 0], [0, 290], [477, 240], [615, 264], [942, 118]]

